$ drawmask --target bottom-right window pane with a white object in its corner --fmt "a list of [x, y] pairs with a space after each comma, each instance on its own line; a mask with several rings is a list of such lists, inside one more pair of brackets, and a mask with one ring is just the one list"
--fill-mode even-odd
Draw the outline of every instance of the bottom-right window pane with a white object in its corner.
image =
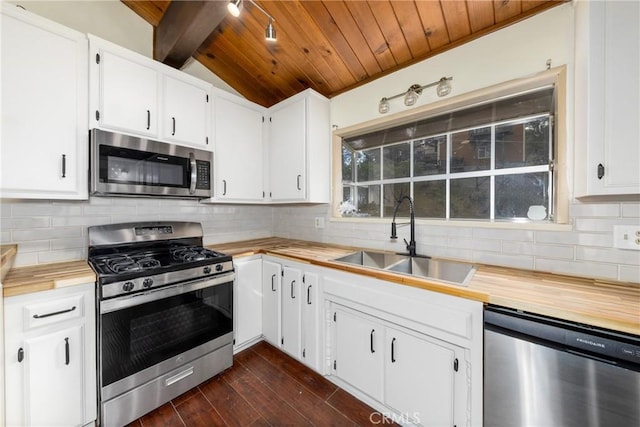
[[548, 172], [496, 176], [496, 219], [546, 219], [547, 206]]

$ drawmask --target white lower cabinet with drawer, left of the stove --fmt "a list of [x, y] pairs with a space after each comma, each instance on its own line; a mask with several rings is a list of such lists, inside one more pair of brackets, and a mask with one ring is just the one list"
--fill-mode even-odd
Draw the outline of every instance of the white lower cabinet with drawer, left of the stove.
[[5, 298], [6, 423], [96, 419], [95, 284]]

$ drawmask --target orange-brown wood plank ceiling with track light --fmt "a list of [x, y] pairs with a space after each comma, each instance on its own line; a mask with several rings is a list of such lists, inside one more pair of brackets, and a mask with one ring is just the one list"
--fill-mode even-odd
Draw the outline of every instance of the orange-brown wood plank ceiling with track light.
[[[122, 1], [154, 28], [171, 3]], [[564, 1], [256, 0], [274, 18], [269, 42], [267, 16], [244, 0], [193, 57], [265, 107], [307, 88], [330, 98]]]

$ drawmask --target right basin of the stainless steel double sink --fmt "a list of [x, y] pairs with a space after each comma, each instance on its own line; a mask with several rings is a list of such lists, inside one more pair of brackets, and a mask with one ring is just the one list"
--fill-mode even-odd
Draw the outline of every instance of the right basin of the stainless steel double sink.
[[393, 264], [387, 270], [467, 286], [476, 268], [464, 262], [415, 257]]

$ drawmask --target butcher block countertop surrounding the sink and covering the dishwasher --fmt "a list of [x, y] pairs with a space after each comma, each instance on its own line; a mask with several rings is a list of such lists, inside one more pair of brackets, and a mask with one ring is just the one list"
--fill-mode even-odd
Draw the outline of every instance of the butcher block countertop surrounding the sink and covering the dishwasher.
[[640, 284], [476, 264], [477, 271], [469, 286], [461, 287], [331, 261], [362, 248], [280, 238], [215, 244], [211, 248], [234, 257], [259, 253], [284, 256], [298, 262], [640, 335]]

